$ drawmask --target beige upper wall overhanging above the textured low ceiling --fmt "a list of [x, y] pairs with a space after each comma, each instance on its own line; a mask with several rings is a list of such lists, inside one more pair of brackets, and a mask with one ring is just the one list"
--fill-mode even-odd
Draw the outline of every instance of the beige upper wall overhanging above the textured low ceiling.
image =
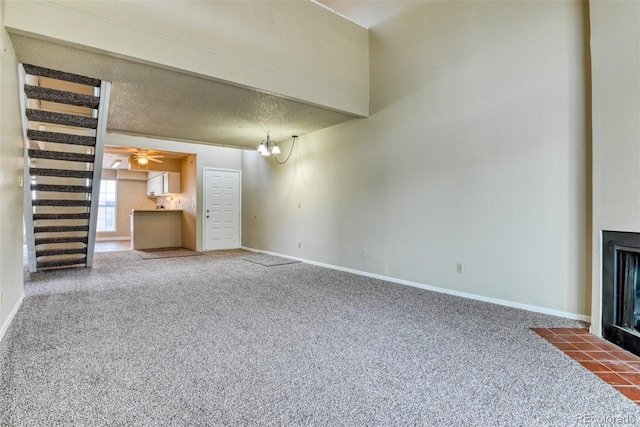
[[11, 1], [6, 25], [21, 34], [368, 114], [367, 31], [307, 0]]

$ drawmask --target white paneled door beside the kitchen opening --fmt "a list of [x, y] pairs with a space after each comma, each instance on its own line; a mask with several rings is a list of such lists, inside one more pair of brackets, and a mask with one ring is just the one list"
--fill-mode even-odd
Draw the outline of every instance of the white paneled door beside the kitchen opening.
[[240, 247], [240, 171], [204, 169], [204, 250]]

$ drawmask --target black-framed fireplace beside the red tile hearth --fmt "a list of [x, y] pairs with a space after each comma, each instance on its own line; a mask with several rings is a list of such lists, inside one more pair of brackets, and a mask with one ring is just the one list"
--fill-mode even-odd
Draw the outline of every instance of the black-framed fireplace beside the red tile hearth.
[[602, 233], [602, 336], [640, 355], [640, 233]]

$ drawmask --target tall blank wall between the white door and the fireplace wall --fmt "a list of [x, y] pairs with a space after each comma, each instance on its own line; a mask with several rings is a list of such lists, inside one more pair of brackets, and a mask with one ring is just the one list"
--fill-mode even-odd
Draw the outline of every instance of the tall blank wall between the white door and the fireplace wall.
[[585, 5], [407, 4], [369, 118], [243, 152], [243, 244], [584, 318]]

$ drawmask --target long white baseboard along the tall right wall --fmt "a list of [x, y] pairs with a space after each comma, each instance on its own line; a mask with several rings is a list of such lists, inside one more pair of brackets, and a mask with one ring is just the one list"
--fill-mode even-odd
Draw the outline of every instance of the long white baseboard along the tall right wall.
[[360, 275], [360, 276], [371, 277], [371, 278], [374, 278], [374, 279], [380, 279], [380, 280], [384, 280], [384, 281], [391, 282], [391, 283], [397, 283], [399, 285], [412, 286], [414, 288], [420, 288], [420, 289], [424, 289], [424, 290], [427, 290], [427, 291], [438, 292], [438, 293], [441, 293], [441, 294], [453, 295], [453, 296], [457, 296], [457, 297], [468, 298], [468, 299], [472, 299], [472, 300], [477, 300], [477, 301], [483, 301], [483, 302], [488, 302], [488, 303], [492, 303], [492, 304], [502, 305], [502, 306], [505, 306], [505, 307], [518, 308], [520, 310], [532, 311], [534, 313], [548, 314], [550, 316], [564, 317], [565, 319], [580, 320], [580, 321], [583, 321], [583, 322], [591, 323], [591, 316], [587, 316], [585, 314], [569, 313], [567, 311], [553, 310], [553, 309], [546, 308], [546, 307], [539, 307], [537, 305], [523, 304], [523, 303], [509, 301], [509, 300], [485, 297], [483, 295], [477, 295], [477, 294], [470, 294], [470, 293], [467, 293], [467, 292], [454, 291], [454, 290], [446, 289], [446, 288], [439, 288], [437, 286], [425, 285], [425, 284], [422, 284], [422, 283], [411, 282], [409, 280], [396, 279], [394, 277], [383, 276], [383, 275], [374, 274], [374, 273], [368, 273], [366, 271], [354, 270], [352, 268], [340, 267], [340, 266], [332, 265], [332, 264], [325, 264], [325, 263], [322, 263], [322, 262], [311, 261], [311, 260], [307, 260], [307, 259], [304, 259], [304, 258], [296, 258], [296, 257], [292, 257], [292, 256], [289, 256], [289, 255], [279, 254], [279, 253], [276, 253], [276, 252], [262, 251], [262, 250], [259, 250], [259, 249], [248, 248], [248, 247], [244, 247], [244, 246], [242, 247], [242, 249], [245, 249], [245, 250], [251, 251], [251, 252], [260, 252], [260, 253], [265, 253], [265, 254], [269, 254], [269, 255], [280, 256], [280, 257], [283, 257], [283, 258], [295, 259], [296, 261], [302, 261], [302, 262], [307, 263], [307, 264], [317, 265], [318, 267], [325, 267], [325, 268], [330, 268], [332, 270], [344, 271], [346, 273], [353, 273], [353, 274], [357, 274], [357, 275]]

